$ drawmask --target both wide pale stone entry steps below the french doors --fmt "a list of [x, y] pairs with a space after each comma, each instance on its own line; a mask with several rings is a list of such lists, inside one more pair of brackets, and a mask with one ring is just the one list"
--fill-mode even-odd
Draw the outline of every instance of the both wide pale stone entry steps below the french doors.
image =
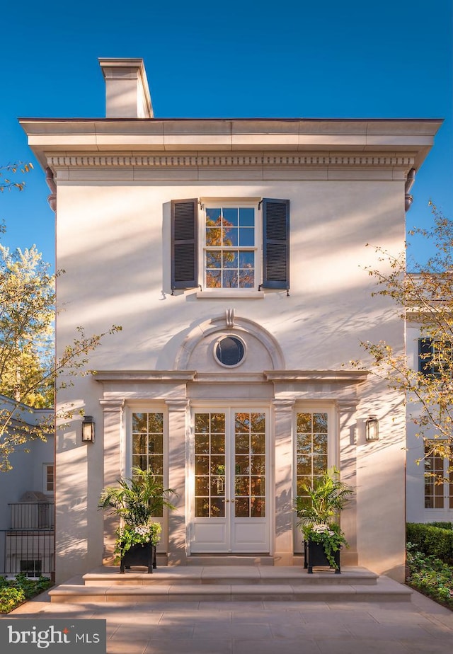
[[158, 566], [98, 568], [83, 583], [50, 590], [52, 602], [410, 602], [411, 590], [366, 568], [314, 570], [295, 566]]

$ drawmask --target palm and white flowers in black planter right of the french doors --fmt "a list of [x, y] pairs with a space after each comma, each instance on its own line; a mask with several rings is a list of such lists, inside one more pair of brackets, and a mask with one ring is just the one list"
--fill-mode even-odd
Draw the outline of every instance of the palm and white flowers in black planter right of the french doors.
[[340, 549], [348, 547], [348, 543], [338, 520], [353, 490], [340, 481], [336, 468], [326, 471], [313, 484], [305, 484], [302, 490], [304, 495], [298, 495], [294, 503], [297, 526], [304, 534], [304, 566], [309, 574], [314, 566], [328, 566], [340, 574]]

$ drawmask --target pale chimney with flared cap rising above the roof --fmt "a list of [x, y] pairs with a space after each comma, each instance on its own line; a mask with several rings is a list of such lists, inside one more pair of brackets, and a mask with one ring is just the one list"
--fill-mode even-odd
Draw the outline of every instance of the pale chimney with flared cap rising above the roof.
[[106, 118], [152, 118], [143, 59], [99, 58], [105, 79]]

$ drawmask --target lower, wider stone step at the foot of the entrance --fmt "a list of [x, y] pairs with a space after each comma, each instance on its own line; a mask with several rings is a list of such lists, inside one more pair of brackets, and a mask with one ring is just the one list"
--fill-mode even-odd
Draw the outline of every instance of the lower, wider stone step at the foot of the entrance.
[[[339, 575], [337, 575], [339, 576]], [[411, 590], [395, 581], [379, 577], [377, 583], [363, 584], [146, 584], [71, 585], [49, 592], [52, 602], [409, 602]]]

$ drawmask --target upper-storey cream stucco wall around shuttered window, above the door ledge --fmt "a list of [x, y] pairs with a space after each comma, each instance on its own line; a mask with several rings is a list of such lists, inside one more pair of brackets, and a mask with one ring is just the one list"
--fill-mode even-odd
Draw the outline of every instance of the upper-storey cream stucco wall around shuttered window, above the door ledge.
[[[195, 291], [171, 296], [169, 202], [220, 194], [289, 197], [289, 297], [266, 292], [254, 301], [210, 301], [197, 299]], [[358, 340], [378, 332], [391, 337], [396, 324], [391, 306], [370, 297], [372, 280], [364, 268], [377, 265], [367, 243], [391, 252], [401, 247], [401, 194], [401, 183], [362, 181], [59, 186], [57, 258], [66, 271], [58, 280], [65, 304], [59, 337], [68, 338], [79, 324], [98, 332], [119, 323], [122, 334], [93, 354], [93, 365], [108, 360], [111, 369], [168, 369], [184, 338], [182, 330], [228, 306], [275, 335], [287, 367], [338, 367], [360, 353]], [[316, 347], [321, 339], [322, 349]]]

